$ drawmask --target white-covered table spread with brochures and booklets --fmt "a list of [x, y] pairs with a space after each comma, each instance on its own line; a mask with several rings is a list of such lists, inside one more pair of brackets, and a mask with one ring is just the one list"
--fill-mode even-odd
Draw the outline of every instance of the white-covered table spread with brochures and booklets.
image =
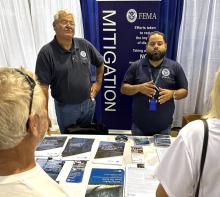
[[169, 136], [46, 136], [37, 163], [74, 197], [155, 196], [154, 171], [171, 143]]

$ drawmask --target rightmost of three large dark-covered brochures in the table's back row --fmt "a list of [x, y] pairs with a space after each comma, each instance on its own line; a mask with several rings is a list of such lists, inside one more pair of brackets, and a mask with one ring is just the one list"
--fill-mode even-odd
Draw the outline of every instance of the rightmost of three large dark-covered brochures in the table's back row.
[[101, 141], [93, 163], [122, 165], [125, 143]]

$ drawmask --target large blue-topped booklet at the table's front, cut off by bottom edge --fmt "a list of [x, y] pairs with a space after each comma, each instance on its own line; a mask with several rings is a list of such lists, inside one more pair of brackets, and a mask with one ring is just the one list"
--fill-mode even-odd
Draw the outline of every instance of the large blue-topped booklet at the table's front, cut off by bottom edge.
[[124, 170], [93, 168], [86, 197], [117, 196], [123, 197]]

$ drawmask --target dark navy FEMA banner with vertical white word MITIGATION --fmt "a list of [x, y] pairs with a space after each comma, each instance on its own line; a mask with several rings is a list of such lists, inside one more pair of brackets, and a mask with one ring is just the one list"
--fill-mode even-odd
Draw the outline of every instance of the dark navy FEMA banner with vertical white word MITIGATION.
[[102, 119], [110, 129], [131, 128], [132, 96], [120, 93], [130, 64], [145, 57], [146, 38], [156, 31], [160, 1], [100, 1], [100, 52], [105, 60]]

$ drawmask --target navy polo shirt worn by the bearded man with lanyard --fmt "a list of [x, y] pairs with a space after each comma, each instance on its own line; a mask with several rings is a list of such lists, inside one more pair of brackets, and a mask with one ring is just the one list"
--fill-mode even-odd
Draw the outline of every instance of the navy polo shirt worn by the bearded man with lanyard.
[[[188, 89], [188, 82], [180, 64], [167, 58], [164, 58], [158, 67], [150, 65], [147, 57], [134, 62], [128, 68], [123, 83], [141, 84], [151, 81], [152, 78], [155, 82], [157, 76], [157, 87], [171, 90]], [[157, 111], [149, 111], [149, 99], [150, 97], [141, 93], [133, 95], [132, 121], [146, 135], [153, 135], [172, 124], [175, 106], [174, 100], [170, 99], [164, 104], [158, 103]]]

